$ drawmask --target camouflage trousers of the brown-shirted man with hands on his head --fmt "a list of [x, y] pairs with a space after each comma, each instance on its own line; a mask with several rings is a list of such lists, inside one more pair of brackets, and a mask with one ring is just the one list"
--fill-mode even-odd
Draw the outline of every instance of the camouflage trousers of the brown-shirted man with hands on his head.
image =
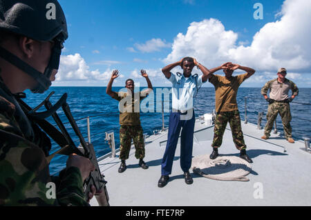
[[211, 143], [211, 146], [213, 148], [219, 148], [221, 146], [221, 143], [223, 143], [223, 133], [225, 132], [228, 121], [236, 148], [238, 150], [246, 149], [241, 128], [240, 113], [238, 112], [238, 110], [230, 112], [219, 112], [216, 114], [214, 139], [213, 143]]

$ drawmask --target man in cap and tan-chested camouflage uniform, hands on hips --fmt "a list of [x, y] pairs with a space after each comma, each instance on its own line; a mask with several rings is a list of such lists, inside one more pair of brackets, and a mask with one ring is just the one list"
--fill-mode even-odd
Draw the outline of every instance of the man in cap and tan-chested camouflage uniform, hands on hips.
[[[290, 121], [292, 120], [292, 115], [290, 114], [290, 102], [298, 95], [299, 90], [295, 83], [285, 78], [285, 68], [280, 68], [277, 75], [277, 79], [268, 81], [261, 89], [261, 94], [263, 94], [263, 97], [269, 103], [267, 109], [267, 123], [265, 124], [264, 135], [261, 138], [268, 139], [270, 137], [274, 120], [277, 115], [280, 114], [285, 139], [290, 143], [294, 143], [294, 139], [292, 139], [292, 127], [290, 126]], [[267, 90], [269, 89], [270, 97], [267, 97]], [[288, 97], [288, 92], [290, 90], [292, 90], [292, 96]]]

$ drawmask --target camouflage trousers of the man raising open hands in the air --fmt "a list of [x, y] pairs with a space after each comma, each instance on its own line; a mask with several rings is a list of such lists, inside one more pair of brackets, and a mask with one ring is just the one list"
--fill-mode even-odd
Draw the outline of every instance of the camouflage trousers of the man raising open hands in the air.
[[120, 159], [129, 159], [131, 142], [135, 146], [135, 157], [144, 158], [144, 135], [142, 126], [120, 126]]

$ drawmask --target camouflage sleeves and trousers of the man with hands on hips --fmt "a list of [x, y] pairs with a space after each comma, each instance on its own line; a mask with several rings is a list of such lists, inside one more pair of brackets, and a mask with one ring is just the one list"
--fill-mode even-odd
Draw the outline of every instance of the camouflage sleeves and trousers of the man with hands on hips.
[[[277, 79], [272, 79], [270, 81], [267, 81], [267, 83], [265, 83], [265, 86], [261, 88], [261, 94], [267, 95], [267, 91], [269, 89], [272, 90], [272, 83], [274, 83], [276, 80]], [[290, 90], [292, 90], [292, 94], [294, 94], [295, 96], [298, 95], [299, 90], [294, 82], [285, 79], [284, 83], [287, 83], [289, 85]], [[281, 84], [283, 83], [279, 83], [280, 86]], [[283, 100], [274, 101], [274, 103], [269, 104], [267, 109], [267, 123], [265, 124], [264, 134], [266, 137], [270, 137], [270, 132], [272, 130], [274, 120], [276, 119], [278, 114], [280, 114], [281, 116], [285, 138], [288, 139], [292, 137], [292, 127], [290, 126], [292, 115], [290, 114], [290, 103], [285, 103]]]

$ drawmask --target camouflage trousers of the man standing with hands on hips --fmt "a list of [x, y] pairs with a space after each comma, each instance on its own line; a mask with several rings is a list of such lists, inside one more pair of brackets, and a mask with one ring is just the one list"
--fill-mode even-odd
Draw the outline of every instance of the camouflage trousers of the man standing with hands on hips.
[[274, 120], [280, 114], [285, 138], [288, 139], [292, 137], [292, 127], [290, 126], [290, 121], [292, 120], [292, 115], [290, 114], [290, 104], [282, 102], [274, 102], [269, 104], [267, 110], [267, 123], [265, 124], [265, 136], [270, 137], [270, 132], [273, 127]]

